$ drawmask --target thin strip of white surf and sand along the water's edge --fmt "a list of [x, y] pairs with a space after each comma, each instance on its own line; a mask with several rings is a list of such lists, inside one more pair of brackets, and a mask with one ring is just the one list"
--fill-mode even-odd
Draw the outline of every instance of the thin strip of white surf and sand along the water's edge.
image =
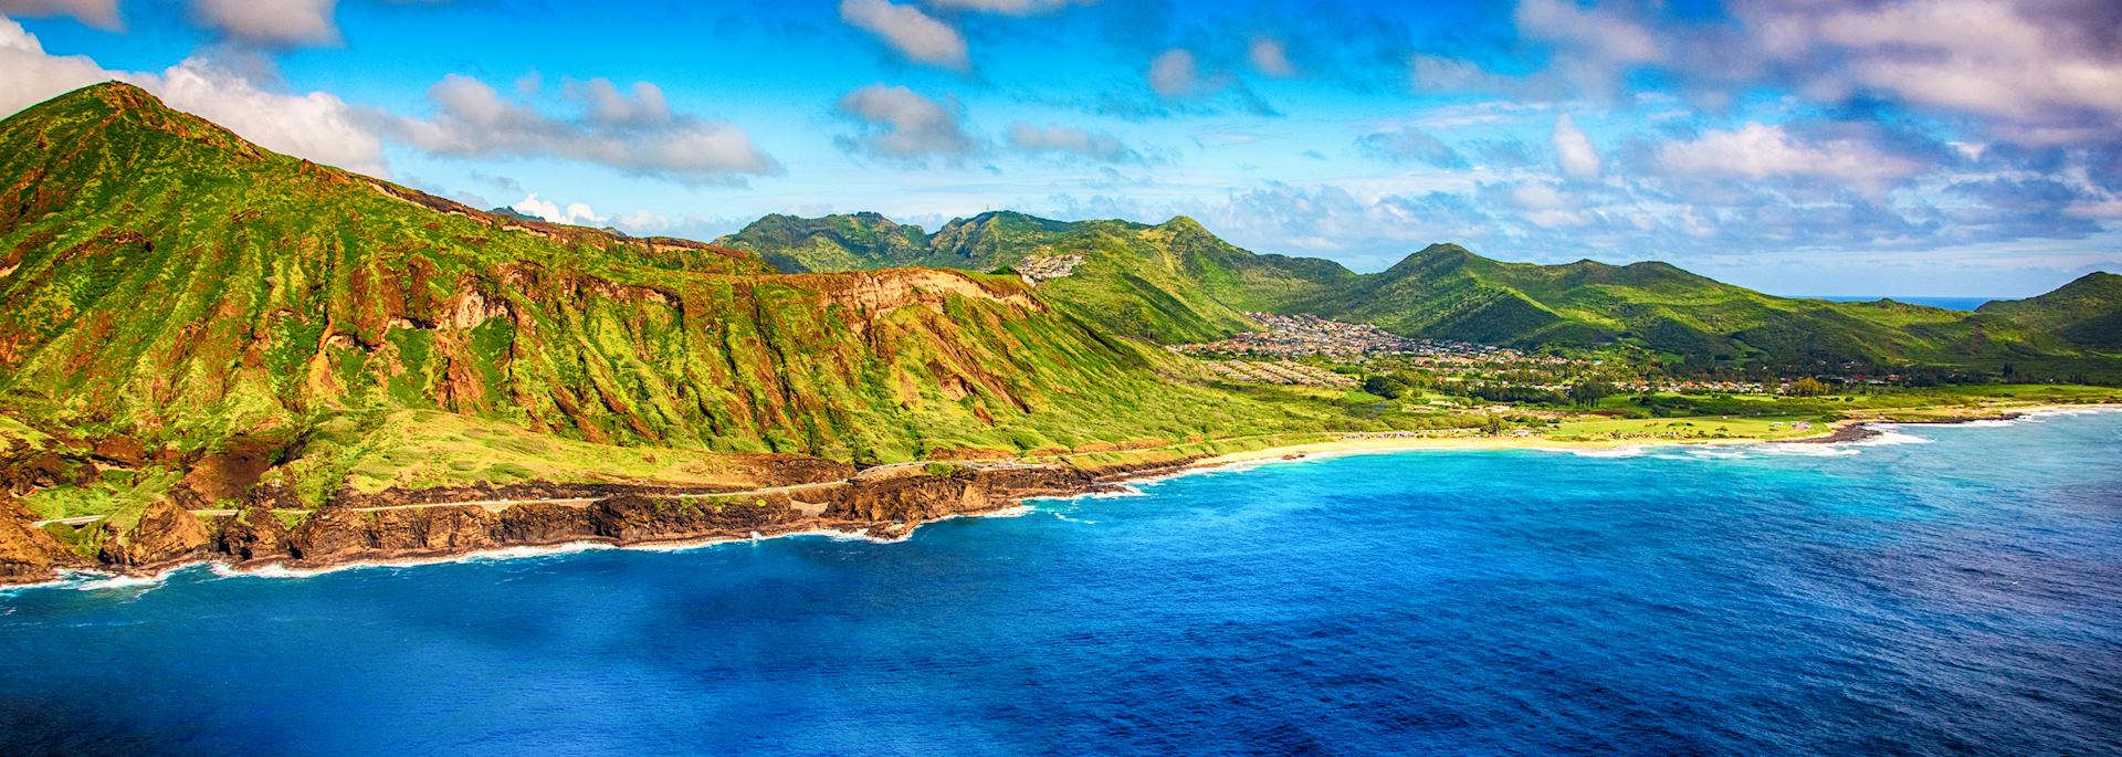
[[[1036, 511], [1031, 500], [1072, 500], [1084, 496], [1101, 496], [1114, 492], [1131, 490], [1129, 483], [1152, 483], [1163, 479], [1173, 479], [1195, 473], [1224, 471], [1241, 464], [1273, 464], [1273, 462], [1305, 462], [1337, 456], [1356, 454], [1398, 454], [1398, 452], [1611, 452], [1611, 450], [1642, 450], [1642, 447], [1732, 447], [1732, 445], [1776, 445], [1776, 443], [1806, 443], [1806, 445], [1840, 445], [1840, 443], [1863, 443], [1884, 435], [1874, 426], [1952, 426], [1952, 424], [1976, 424], [1976, 422], [2014, 422], [2037, 416], [2056, 413], [2080, 413], [2080, 411], [2122, 411], [2122, 405], [2027, 405], [2010, 407], [2001, 413], [1988, 416], [1967, 416], [1967, 418], [1940, 418], [1940, 420], [1844, 420], [1836, 422], [1827, 433], [1802, 437], [1802, 439], [1759, 439], [1759, 437], [1734, 437], [1734, 439], [1598, 439], [1598, 441], [1555, 441], [1545, 437], [1356, 437], [1356, 439], [1335, 439], [1335, 441], [1314, 441], [1280, 447], [1260, 447], [1248, 452], [1233, 452], [1220, 456], [1205, 456], [1167, 464], [1146, 464], [1133, 471], [1118, 471], [1110, 475], [1091, 477], [1076, 492], [1044, 492], [1044, 494], [1023, 494], [1006, 498], [993, 507], [944, 513], [927, 520], [908, 522], [804, 522], [789, 524], [794, 528], [751, 534], [673, 534], [671, 539], [564, 539], [552, 543], [520, 543], [501, 545], [488, 549], [471, 551], [405, 551], [390, 556], [369, 556], [354, 558], [346, 562], [323, 562], [306, 564], [303, 560], [244, 560], [231, 562], [223, 558], [193, 558], [176, 560], [166, 564], [146, 564], [134, 570], [93, 570], [93, 568], [66, 568], [55, 573], [49, 581], [34, 583], [0, 583], [0, 596], [8, 596], [23, 589], [108, 589], [108, 585], [95, 585], [106, 581], [123, 581], [123, 585], [155, 585], [166, 581], [170, 575], [206, 566], [221, 577], [253, 577], [253, 579], [308, 579], [327, 573], [342, 570], [363, 570], [363, 568], [418, 568], [433, 564], [452, 562], [475, 562], [475, 560], [522, 560], [522, 558], [547, 558], [575, 551], [603, 551], [603, 549], [637, 549], [637, 551], [688, 551], [705, 549], [730, 543], [758, 543], [770, 539], [792, 539], [792, 536], [825, 536], [834, 541], [866, 541], [874, 545], [904, 543], [912, 539], [912, 532], [927, 524], [938, 524], [957, 517], [1016, 517]], [[885, 534], [876, 534], [876, 528], [885, 528]]]

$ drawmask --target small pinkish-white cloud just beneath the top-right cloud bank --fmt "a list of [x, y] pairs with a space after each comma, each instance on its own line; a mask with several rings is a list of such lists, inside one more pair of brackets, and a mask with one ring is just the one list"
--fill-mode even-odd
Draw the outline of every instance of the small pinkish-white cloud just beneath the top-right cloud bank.
[[1746, 123], [1736, 131], [1710, 129], [1691, 142], [1666, 142], [1657, 161], [1683, 176], [1827, 178], [1878, 189], [1925, 172], [1908, 157], [1850, 138], [1804, 142], [1780, 125]]

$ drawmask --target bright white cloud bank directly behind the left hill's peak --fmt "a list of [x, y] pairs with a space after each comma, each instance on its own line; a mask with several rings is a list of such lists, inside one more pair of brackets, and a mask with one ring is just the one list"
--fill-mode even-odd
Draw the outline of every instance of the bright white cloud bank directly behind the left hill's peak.
[[382, 140], [331, 93], [272, 91], [197, 55], [159, 74], [104, 70], [85, 55], [47, 55], [34, 34], [0, 17], [0, 115], [112, 78], [140, 85], [168, 106], [221, 123], [269, 151], [388, 176]]

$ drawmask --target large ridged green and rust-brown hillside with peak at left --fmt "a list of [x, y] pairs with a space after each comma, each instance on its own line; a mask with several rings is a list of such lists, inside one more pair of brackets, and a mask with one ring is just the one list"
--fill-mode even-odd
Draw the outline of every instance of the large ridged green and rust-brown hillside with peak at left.
[[904, 460], [1337, 418], [1193, 382], [1014, 276], [783, 276], [711, 244], [494, 216], [267, 153], [127, 85], [0, 123], [0, 411], [70, 437], [316, 456], [414, 409]]

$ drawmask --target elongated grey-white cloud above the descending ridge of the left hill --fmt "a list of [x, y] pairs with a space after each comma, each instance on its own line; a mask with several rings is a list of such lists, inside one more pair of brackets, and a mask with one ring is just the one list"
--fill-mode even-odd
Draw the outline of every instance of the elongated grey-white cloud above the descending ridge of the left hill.
[[603, 78], [567, 87], [584, 117], [564, 119], [503, 98], [480, 78], [448, 74], [429, 87], [431, 119], [382, 119], [395, 140], [450, 157], [562, 157], [679, 182], [741, 182], [781, 163], [728, 121], [671, 112], [662, 89]]

